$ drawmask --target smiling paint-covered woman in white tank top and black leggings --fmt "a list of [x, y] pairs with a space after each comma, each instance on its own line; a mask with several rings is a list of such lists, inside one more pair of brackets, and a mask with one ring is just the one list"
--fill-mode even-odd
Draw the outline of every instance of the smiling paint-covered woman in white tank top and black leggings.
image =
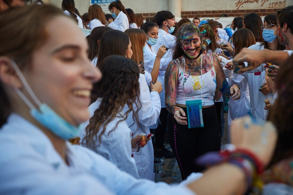
[[178, 31], [177, 42], [166, 70], [165, 90], [168, 137], [182, 179], [204, 168], [194, 165], [198, 156], [219, 151], [220, 127], [214, 106], [215, 91], [239, 99], [236, 85], [229, 86], [218, 59], [202, 54], [202, 33], [192, 23]]

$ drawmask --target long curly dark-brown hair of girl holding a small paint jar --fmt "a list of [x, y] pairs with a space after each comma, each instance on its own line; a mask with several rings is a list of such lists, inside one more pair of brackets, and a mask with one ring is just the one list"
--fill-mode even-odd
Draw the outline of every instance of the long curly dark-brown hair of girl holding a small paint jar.
[[[96, 148], [101, 143], [101, 137], [106, 131], [107, 125], [113, 121], [124, 106], [128, 109], [121, 115], [116, 126], [110, 130], [113, 132], [117, 125], [127, 119], [132, 112], [132, 119], [138, 124], [138, 111], [141, 108], [139, 101], [139, 68], [136, 62], [129, 58], [112, 55], [105, 58], [99, 65], [103, 79], [94, 84], [92, 93], [101, 100], [99, 108], [89, 119], [86, 127], [86, 136], [82, 139], [83, 145], [88, 148]], [[134, 108], [137, 108], [134, 110]], [[134, 124], [134, 122], [133, 122]], [[132, 125], [133, 125], [132, 124]], [[96, 141], [99, 139], [99, 144]]]

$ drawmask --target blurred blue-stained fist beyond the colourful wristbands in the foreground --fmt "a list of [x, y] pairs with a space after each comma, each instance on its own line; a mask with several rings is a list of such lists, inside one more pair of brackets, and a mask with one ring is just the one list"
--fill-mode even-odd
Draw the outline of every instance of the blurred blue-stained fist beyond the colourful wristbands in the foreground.
[[230, 137], [231, 143], [236, 148], [247, 149], [255, 153], [259, 160], [267, 165], [275, 149], [277, 132], [271, 122], [255, 120], [246, 116], [232, 122]]

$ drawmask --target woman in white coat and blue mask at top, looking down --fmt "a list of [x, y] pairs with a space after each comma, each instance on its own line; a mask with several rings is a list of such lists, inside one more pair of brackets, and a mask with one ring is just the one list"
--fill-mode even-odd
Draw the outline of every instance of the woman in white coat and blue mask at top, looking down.
[[115, 20], [113, 21], [112, 18], [109, 18], [108, 27], [122, 32], [129, 28], [129, 18], [120, 0], [110, 3], [109, 11]]

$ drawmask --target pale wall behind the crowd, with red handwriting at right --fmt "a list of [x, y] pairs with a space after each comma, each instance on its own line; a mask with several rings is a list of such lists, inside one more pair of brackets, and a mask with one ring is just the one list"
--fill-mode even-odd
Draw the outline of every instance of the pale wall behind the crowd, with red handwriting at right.
[[[51, 4], [61, 8], [62, 0], [49, 0]], [[266, 9], [266, 8], [282, 8], [279, 6], [280, 2], [285, 2], [285, 6], [293, 4], [293, 0], [121, 0], [125, 8], [131, 8], [134, 13], [156, 13], [161, 10], [169, 10], [176, 17], [180, 17], [180, 5], [177, 5], [181, 1], [181, 11], [205, 11], [205, 10], [235, 10], [239, 9]], [[90, 6], [90, 0], [74, 0], [75, 7], [82, 15], [88, 12], [88, 6]], [[239, 2], [239, 3], [238, 3]], [[245, 3], [248, 2], [248, 3]], [[278, 4], [275, 4], [275, 3]], [[242, 5], [239, 5], [243, 3]], [[282, 3], [283, 4], [283, 3]], [[238, 6], [237, 6], [238, 5]], [[175, 10], [175, 9], [178, 10]], [[110, 12], [109, 12], [110, 13]]]

